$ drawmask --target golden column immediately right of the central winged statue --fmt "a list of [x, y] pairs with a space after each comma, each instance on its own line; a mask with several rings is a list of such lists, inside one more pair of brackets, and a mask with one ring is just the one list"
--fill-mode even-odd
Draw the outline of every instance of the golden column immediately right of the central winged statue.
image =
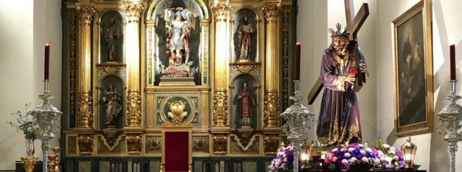
[[228, 126], [228, 64], [229, 46], [227, 19], [231, 5], [229, 0], [214, 0], [210, 4], [215, 22], [215, 75], [213, 126]]

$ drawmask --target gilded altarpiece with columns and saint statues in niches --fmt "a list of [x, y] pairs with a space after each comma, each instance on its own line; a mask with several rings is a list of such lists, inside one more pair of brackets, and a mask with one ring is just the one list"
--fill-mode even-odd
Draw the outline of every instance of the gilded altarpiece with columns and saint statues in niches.
[[243, 161], [266, 170], [285, 139], [295, 8], [292, 0], [65, 2], [65, 171], [113, 163], [158, 171], [169, 126], [192, 127], [194, 171]]

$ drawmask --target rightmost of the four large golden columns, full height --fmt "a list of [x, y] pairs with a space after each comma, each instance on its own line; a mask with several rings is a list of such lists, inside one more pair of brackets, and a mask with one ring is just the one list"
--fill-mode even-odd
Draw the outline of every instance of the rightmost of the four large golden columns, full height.
[[282, 10], [281, 0], [263, 1], [262, 11], [266, 18], [266, 62], [265, 62], [265, 125], [279, 127], [279, 82], [280, 54], [279, 14]]

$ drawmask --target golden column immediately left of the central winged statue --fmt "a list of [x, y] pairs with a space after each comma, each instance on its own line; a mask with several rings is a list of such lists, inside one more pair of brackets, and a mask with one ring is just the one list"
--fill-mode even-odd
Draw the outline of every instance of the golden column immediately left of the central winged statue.
[[124, 14], [128, 20], [125, 26], [125, 56], [128, 63], [127, 126], [141, 127], [139, 25], [143, 5], [136, 1], [124, 3]]

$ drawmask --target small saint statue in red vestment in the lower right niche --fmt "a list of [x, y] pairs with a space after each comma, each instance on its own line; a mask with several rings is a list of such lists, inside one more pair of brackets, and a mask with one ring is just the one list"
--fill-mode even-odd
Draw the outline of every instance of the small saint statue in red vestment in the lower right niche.
[[255, 100], [252, 97], [252, 93], [247, 89], [247, 82], [242, 83], [241, 90], [237, 93], [237, 99], [239, 100], [240, 105], [240, 122], [241, 126], [251, 126], [252, 125], [252, 105], [255, 105]]

